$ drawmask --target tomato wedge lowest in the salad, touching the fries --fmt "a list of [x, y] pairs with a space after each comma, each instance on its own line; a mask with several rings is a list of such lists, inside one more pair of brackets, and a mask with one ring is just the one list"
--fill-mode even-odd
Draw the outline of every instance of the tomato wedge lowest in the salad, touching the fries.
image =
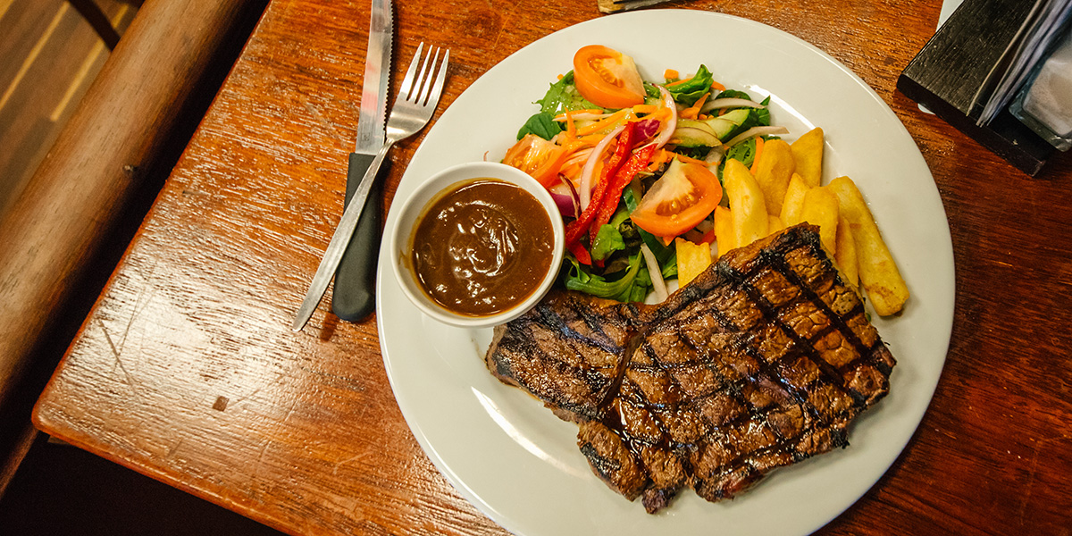
[[718, 177], [705, 166], [674, 159], [632, 211], [638, 227], [659, 237], [675, 237], [696, 227], [723, 198]]

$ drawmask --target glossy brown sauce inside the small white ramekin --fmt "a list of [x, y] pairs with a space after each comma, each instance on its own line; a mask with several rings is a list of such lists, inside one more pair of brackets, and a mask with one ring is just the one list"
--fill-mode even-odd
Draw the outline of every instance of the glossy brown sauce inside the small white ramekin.
[[551, 220], [531, 193], [474, 179], [436, 199], [414, 230], [413, 267], [425, 292], [470, 316], [506, 311], [551, 269]]

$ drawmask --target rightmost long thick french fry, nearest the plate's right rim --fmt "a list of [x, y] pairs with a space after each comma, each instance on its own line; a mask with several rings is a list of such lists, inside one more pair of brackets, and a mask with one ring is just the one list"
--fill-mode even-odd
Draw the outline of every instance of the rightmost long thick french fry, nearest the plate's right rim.
[[838, 177], [829, 188], [837, 195], [842, 213], [849, 221], [857, 244], [860, 281], [875, 312], [887, 316], [900, 311], [908, 300], [908, 286], [882, 240], [875, 218], [852, 179]]

